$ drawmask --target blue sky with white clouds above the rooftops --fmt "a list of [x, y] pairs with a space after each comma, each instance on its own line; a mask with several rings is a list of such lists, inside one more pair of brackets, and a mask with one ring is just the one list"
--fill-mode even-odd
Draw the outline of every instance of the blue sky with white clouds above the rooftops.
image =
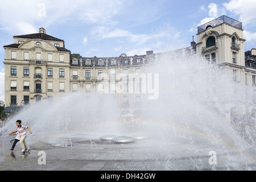
[[0, 0], [0, 100], [5, 49], [15, 35], [46, 34], [83, 57], [145, 55], [188, 47], [197, 27], [226, 15], [243, 23], [245, 51], [256, 48], [255, 0]]

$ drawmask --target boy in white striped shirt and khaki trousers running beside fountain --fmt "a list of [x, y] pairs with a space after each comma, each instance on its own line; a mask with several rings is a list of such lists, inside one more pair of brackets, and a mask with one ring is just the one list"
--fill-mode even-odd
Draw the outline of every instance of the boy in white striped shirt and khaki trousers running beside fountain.
[[22, 147], [21, 152], [29, 152], [31, 149], [30, 149], [30, 147], [27, 146], [27, 144], [25, 142], [25, 138], [27, 137], [26, 129], [28, 129], [30, 131], [30, 134], [32, 134], [32, 131], [31, 131], [30, 127], [22, 125], [22, 121], [20, 121], [20, 120], [16, 121], [16, 126], [17, 126], [16, 130], [11, 132], [9, 135], [16, 133], [18, 131], [18, 133], [20, 135], [19, 144], [20, 144], [20, 147]]

